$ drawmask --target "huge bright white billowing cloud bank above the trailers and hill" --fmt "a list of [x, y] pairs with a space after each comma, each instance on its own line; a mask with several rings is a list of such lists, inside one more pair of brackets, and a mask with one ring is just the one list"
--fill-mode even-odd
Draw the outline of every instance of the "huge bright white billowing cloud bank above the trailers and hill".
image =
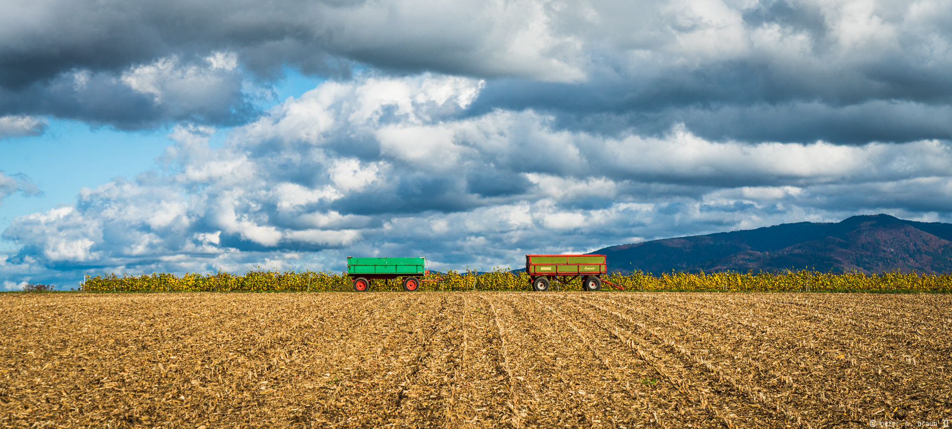
[[[467, 114], [482, 80], [368, 72], [328, 81], [208, 146], [180, 126], [161, 168], [20, 217], [11, 279], [81, 272], [340, 269], [426, 255], [439, 269], [530, 252], [868, 212], [952, 219], [946, 140], [712, 141], [685, 125], [606, 135], [532, 109]], [[274, 266], [271, 266], [274, 265]]]

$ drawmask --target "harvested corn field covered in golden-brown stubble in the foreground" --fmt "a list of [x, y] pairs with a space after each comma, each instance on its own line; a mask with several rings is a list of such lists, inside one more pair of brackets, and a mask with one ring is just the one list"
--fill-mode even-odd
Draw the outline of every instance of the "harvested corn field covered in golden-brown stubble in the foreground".
[[950, 298], [8, 294], [0, 425], [942, 427]]

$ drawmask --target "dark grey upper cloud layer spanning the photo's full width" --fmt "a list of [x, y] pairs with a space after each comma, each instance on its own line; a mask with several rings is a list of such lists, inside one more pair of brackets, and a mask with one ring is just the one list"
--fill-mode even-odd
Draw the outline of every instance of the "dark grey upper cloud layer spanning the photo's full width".
[[44, 0], [0, 18], [0, 114], [235, 125], [258, 113], [243, 85], [267, 88], [287, 68], [341, 79], [370, 68], [485, 80], [466, 114], [533, 109], [570, 131], [661, 136], [683, 123], [753, 144], [948, 139], [948, 6]]

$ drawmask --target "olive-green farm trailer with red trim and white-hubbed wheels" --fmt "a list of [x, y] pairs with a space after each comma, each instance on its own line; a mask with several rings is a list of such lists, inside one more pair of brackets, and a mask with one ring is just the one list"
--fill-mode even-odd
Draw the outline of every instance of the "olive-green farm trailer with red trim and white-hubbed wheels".
[[548, 290], [550, 281], [569, 283], [582, 278], [582, 288], [599, 290], [608, 272], [605, 255], [526, 255], [526, 274], [532, 289]]

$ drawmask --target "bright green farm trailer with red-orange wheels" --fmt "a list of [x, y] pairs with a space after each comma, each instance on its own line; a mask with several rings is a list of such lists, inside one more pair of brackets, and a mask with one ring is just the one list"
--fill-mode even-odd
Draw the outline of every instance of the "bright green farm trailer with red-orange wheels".
[[347, 275], [354, 290], [366, 292], [370, 280], [404, 278], [404, 290], [420, 288], [420, 277], [426, 276], [426, 258], [353, 258], [347, 257]]

